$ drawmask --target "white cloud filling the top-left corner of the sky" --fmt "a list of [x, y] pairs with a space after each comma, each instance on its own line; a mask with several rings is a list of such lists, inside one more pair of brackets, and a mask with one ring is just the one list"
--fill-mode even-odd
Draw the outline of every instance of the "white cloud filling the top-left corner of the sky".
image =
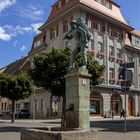
[[16, 0], [0, 0], [0, 13], [7, 7], [16, 3]]

